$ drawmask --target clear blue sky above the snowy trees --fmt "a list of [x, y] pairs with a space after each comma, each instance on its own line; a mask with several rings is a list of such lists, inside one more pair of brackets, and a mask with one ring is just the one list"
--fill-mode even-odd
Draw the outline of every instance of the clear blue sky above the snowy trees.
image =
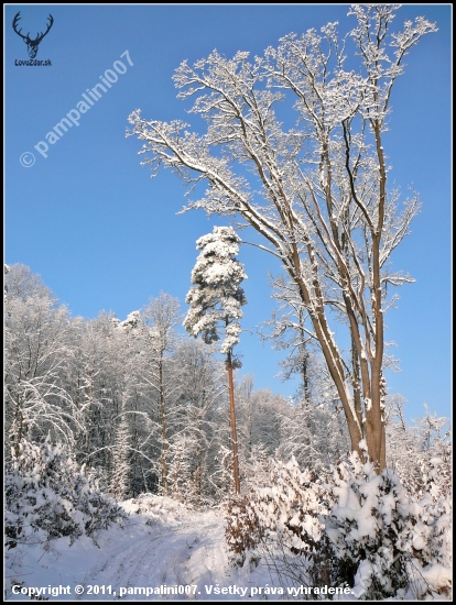
[[[346, 31], [354, 19], [346, 16], [348, 6], [9, 4], [3, 10], [6, 262], [41, 274], [74, 315], [96, 317], [105, 309], [123, 319], [161, 290], [177, 297], [185, 311], [195, 241], [227, 221], [208, 220], [203, 211], [176, 216], [185, 189], [167, 172], [150, 179], [137, 155], [140, 142], [126, 139], [128, 116], [140, 108], [146, 119], [191, 122], [171, 79], [183, 59], [194, 62], [214, 48], [226, 56], [240, 50], [260, 54], [290, 32], [328, 21], [339, 21]], [[53, 15], [36, 55], [51, 66], [15, 64], [29, 58], [11, 26], [19, 11], [19, 26], [31, 37]], [[406, 57], [384, 143], [393, 166], [390, 182], [404, 193], [413, 186], [423, 204], [412, 235], [393, 256], [394, 267], [416, 283], [399, 292], [398, 309], [387, 316], [387, 340], [397, 343], [402, 370], [388, 376], [388, 385], [409, 400], [409, 418], [423, 413], [423, 403], [445, 416], [450, 409], [452, 9], [408, 4], [397, 22], [417, 15], [436, 21], [439, 31]], [[124, 51], [132, 65], [121, 57]], [[35, 145], [118, 61], [126, 73], [115, 72], [117, 81], [43, 157]], [[24, 167], [20, 158], [28, 164], [30, 152], [35, 163]], [[295, 384], [274, 377], [278, 354], [254, 334], [273, 309], [267, 274], [278, 266], [250, 246], [239, 258], [249, 276], [243, 327], [252, 331], [239, 346], [241, 373], [254, 374], [257, 388], [292, 395]]]

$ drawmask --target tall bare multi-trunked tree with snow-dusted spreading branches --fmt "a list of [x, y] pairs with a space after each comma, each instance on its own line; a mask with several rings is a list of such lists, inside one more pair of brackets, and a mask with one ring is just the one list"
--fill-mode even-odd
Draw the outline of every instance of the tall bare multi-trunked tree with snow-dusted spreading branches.
[[[389, 260], [419, 208], [416, 194], [400, 208], [388, 187], [383, 134], [405, 55], [436, 31], [422, 16], [393, 28], [398, 9], [354, 4], [355, 28], [341, 40], [328, 23], [251, 62], [247, 52], [229, 59], [216, 51], [193, 66], [185, 61], [174, 81], [180, 98], [196, 96], [191, 113], [207, 122], [203, 135], [180, 120], [129, 117], [153, 175], [163, 165], [189, 186], [208, 184], [187, 209], [239, 216], [281, 260], [336, 385], [351, 448], [363, 457], [366, 440], [377, 472], [386, 464], [387, 286], [412, 282]], [[274, 112], [284, 99], [296, 111], [290, 130]], [[347, 327], [347, 354], [330, 329], [335, 316]]]

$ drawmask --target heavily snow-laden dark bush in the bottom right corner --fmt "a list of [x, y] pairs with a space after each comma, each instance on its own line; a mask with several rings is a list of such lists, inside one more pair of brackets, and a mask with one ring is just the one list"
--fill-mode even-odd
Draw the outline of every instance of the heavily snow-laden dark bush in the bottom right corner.
[[356, 569], [357, 596], [446, 594], [450, 502], [445, 494], [434, 490], [414, 497], [394, 471], [386, 469], [377, 475], [356, 453], [337, 466], [332, 490], [337, 502], [326, 534], [338, 561]]

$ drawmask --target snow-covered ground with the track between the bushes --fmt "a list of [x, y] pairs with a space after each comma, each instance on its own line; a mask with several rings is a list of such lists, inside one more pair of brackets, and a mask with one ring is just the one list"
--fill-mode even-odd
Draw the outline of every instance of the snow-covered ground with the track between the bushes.
[[[48, 601], [243, 601], [264, 598], [260, 587], [271, 591], [274, 581], [264, 566], [230, 565], [221, 514], [188, 510], [158, 496], [149, 498], [152, 506], [148, 512], [138, 501], [123, 503], [130, 513], [124, 527], [100, 531], [97, 544], [84, 536], [73, 546], [67, 538], [53, 540], [47, 552], [41, 543], [9, 550], [7, 598], [30, 600], [28, 594], [11, 594], [11, 584], [18, 583], [23, 591], [46, 588], [35, 591], [35, 598]], [[48, 587], [55, 588], [54, 595]], [[269, 595], [271, 598], [276, 595]]]

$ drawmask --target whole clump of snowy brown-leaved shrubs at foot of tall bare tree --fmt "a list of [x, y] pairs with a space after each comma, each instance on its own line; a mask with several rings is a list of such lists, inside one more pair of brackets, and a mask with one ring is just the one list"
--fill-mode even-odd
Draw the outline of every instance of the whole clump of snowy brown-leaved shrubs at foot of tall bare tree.
[[450, 501], [438, 459], [433, 464], [428, 491], [410, 494], [394, 471], [378, 475], [357, 453], [326, 482], [294, 459], [272, 462], [269, 486], [229, 510], [228, 547], [243, 561], [242, 546], [271, 557], [274, 542], [289, 553], [289, 578], [295, 565], [310, 585], [349, 585], [361, 600], [448, 596]]

